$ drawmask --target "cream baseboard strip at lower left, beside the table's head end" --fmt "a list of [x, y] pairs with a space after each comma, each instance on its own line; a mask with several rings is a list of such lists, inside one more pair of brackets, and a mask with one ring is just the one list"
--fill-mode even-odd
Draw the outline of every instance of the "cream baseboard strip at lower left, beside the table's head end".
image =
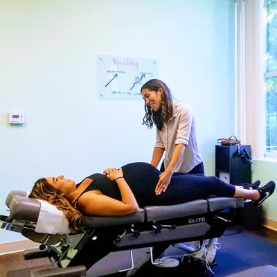
[[39, 243], [32, 242], [32, 240], [17, 240], [16, 242], [0, 243], [0, 255], [21, 252], [25, 249], [38, 247]]

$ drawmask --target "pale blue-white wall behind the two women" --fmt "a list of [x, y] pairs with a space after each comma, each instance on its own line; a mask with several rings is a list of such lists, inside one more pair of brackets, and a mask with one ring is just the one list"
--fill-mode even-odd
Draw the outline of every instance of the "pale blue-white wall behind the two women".
[[[143, 100], [98, 100], [97, 55], [155, 59], [195, 110], [207, 175], [216, 139], [235, 130], [235, 6], [229, 0], [0, 1], [0, 214], [39, 177], [77, 181], [150, 161]], [[26, 124], [8, 124], [8, 111]], [[0, 230], [0, 242], [21, 240]]]

